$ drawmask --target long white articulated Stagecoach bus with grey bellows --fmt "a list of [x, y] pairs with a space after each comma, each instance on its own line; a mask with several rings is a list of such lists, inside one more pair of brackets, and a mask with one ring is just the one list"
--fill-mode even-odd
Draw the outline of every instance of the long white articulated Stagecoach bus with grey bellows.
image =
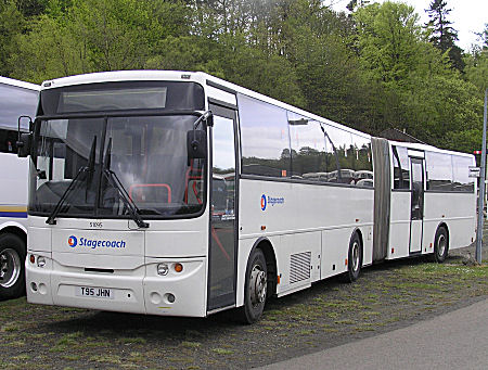
[[467, 245], [472, 155], [390, 142], [204, 73], [44, 81], [30, 154], [30, 303], [239, 308]]

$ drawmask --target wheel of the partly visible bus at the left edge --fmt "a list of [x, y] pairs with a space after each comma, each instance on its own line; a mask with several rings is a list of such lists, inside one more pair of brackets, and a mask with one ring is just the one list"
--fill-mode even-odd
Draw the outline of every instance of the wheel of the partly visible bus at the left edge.
[[25, 242], [18, 235], [0, 235], [0, 299], [25, 294]]

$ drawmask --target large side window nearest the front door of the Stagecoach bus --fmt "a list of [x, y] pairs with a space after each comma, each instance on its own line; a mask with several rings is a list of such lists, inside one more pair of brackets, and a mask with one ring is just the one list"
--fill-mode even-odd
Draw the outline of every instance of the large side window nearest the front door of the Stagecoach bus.
[[239, 94], [242, 173], [290, 176], [290, 136], [286, 111]]

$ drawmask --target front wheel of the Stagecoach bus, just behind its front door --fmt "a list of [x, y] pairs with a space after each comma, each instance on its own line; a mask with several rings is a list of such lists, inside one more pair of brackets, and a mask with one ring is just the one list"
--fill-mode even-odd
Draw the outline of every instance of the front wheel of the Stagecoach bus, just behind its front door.
[[265, 254], [255, 248], [251, 254], [244, 283], [244, 306], [241, 307], [241, 320], [254, 323], [262, 315], [268, 293], [268, 269]]

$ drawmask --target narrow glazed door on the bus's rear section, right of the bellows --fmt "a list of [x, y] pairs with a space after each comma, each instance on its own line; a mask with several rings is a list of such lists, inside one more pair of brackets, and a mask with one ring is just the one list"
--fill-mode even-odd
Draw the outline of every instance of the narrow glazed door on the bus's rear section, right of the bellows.
[[424, 221], [424, 160], [410, 157], [411, 210], [410, 210], [410, 253], [422, 252], [422, 229]]

